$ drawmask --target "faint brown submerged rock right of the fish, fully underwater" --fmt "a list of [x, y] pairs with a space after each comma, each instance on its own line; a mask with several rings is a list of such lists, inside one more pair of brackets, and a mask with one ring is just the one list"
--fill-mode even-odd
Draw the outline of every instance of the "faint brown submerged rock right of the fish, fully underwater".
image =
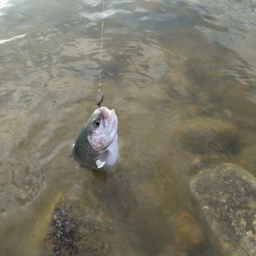
[[175, 134], [183, 149], [193, 154], [236, 154], [240, 149], [237, 129], [228, 121], [191, 118], [184, 121]]

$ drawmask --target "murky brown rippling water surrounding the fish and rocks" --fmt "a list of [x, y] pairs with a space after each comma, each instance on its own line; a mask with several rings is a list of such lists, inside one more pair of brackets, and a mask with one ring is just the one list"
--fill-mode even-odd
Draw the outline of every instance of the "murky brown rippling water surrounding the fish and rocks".
[[[248, 167], [242, 152], [256, 144], [255, 6], [123, 0], [102, 13], [97, 0], [1, 1], [0, 254], [35, 255], [33, 230], [74, 189], [99, 195], [145, 255], [173, 246], [179, 214], [198, 218], [190, 179]], [[102, 15], [102, 105], [117, 113], [121, 157], [108, 176], [65, 157], [96, 108]], [[236, 127], [236, 153], [184, 150], [177, 131], [202, 117]], [[210, 242], [188, 255], [217, 255]]]

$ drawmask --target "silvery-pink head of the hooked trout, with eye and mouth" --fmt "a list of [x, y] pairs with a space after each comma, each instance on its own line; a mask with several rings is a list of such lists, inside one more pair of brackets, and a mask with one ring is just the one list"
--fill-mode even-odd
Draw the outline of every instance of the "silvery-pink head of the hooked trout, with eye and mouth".
[[89, 126], [91, 133], [88, 140], [93, 149], [98, 153], [108, 150], [117, 135], [118, 121], [115, 110], [101, 106], [92, 114]]

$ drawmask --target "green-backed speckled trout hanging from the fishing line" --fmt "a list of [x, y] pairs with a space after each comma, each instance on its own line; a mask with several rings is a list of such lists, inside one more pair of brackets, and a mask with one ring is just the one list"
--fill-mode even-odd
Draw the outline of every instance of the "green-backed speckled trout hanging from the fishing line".
[[114, 168], [118, 162], [118, 119], [115, 110], [96, 109], [72, 146], [75, 162], [88, 169]]

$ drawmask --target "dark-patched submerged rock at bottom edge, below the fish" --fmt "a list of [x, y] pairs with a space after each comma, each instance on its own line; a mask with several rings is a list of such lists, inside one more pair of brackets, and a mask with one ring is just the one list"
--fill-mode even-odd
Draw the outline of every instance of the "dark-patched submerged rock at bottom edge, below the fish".
[[143, 255], [128, 240], [99, 204], [65, 195], [53, 210], [42, 240], [42, 254]]

